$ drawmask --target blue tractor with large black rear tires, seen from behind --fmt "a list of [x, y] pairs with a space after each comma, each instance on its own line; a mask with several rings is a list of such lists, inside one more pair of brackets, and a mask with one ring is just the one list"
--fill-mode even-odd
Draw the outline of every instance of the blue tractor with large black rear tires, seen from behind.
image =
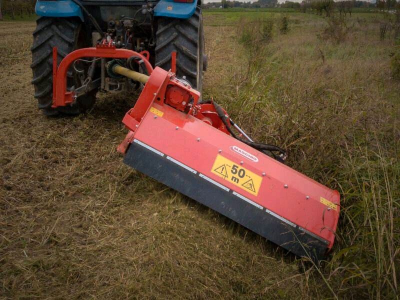
[[[153, 66], [171, 68], [176, 77], [201, 91], [206, 67], [200, 0], [37, 0], [33, 32], [34, 96], [45, 115], [78, 114], [89, 109], [98, 90], [140, 88], [139, 82], [107, 72], [105, 59], [75, 61], [67, 73], [70, 90], [79, 96], [70, 106], [52, 108], [52, 48], [58, 63], [69, 52], [95, 46], [104, 39], [117, 48], [148, 53]], [[115, 61], [126, 66], [129, 61]], [[130, 63], [139, 71], [140, 63]], [[82, 88], [84, 87], [84, 92]]]

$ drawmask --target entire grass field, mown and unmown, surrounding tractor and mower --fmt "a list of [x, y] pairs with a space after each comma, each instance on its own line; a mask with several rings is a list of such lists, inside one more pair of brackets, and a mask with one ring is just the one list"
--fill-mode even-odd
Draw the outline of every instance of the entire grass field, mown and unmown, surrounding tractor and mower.
[[[129, 169], [116, 153], [134, 95], [46, 118], [30, 84], [32, 21], [0, 22], [1, 298], [398, 298], [400, 82], [377, 13], [204, 13], [213, 97], [288, 164], [338, 189], [337, 239], [320, 265]], [[257, 26], [273, 18], [272, 39]], [[17, 38], [16, 38], [17, 36]]]

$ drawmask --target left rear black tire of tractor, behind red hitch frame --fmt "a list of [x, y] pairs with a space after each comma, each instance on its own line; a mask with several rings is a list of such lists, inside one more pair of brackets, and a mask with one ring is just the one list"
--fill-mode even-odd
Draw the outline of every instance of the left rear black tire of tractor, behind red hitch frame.
[[[45, 115], [79, 114], [91, 108], [95, 101], [95, 90], [80, 96], [76, 101], [65, 107], [51, 108], [52, 103], [52, 48], [57, 47], [57, 64], [69, 52], [86, 46], [87, 38], [83, 34], [82, 23], [78, 18], [39, 17], [36, 29], [33, 31], [31, 47], [33, 73], [32, 84], [34, 97], [38, 107]], [[67, 72], [67, 86], [79, 86], [77, 75], [71, 67]]]

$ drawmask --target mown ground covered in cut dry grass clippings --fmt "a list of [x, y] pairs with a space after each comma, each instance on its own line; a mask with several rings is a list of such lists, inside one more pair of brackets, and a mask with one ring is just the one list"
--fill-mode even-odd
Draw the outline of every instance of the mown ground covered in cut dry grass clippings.
[[[43, 116], [30, 84], [34, 27], [0, 23], [0, 298], [308, 297], [291, 254], [122, 163], [132, 98]], [[205, 32], [207, 89], [234, 59], [221, 38], [234, 31]]]

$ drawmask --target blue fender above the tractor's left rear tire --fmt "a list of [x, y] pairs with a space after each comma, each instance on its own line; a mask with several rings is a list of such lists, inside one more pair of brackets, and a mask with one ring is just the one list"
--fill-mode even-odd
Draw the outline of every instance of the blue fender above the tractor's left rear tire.
[[40, 16], [67, 17], [78, 16], [83, 21], [82, 9], [71, 0], [37, 0], [34, 10]]

